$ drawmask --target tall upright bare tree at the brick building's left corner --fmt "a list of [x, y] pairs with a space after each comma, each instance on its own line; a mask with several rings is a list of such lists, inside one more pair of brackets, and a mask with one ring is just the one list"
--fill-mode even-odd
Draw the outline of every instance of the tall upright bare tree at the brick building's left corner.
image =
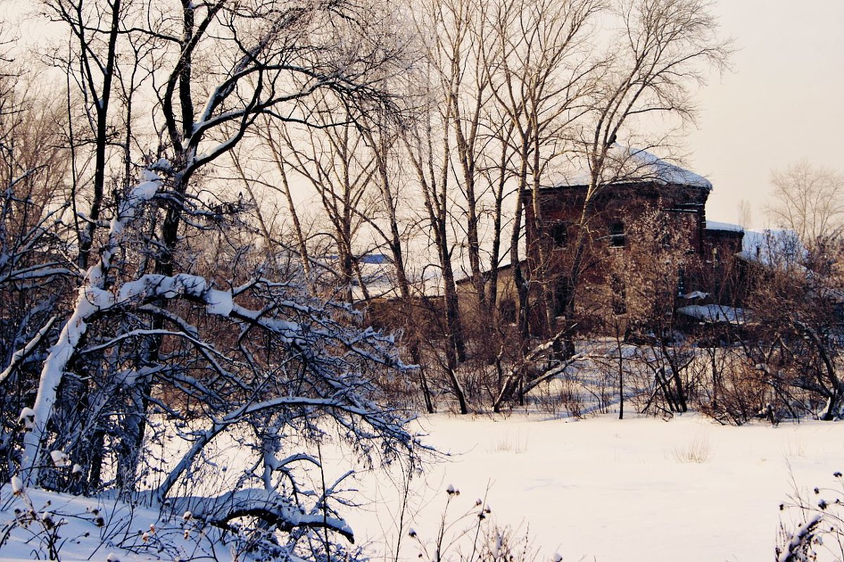
[[[493, 19], [494, 48], [486, 64], [492, 91], [507, 126], [500, 129], [500, 165], [511, 169], [516, 182], [510, 237], [510, 262], [519, 297], [519, 327], [527, 335], [527, 279], [519, 257], [523, 205], [533, 207], [536, 225], [543, 222], [538, 204], [540, 184], [563, 156], [571, 126], [591, 107], [588, 96], [598, 87], [602, 64], [591, 60], [592, 20], [603, 4], [594, 0], [500, 3]], [[502, 134], [503, 133], [503, 136]], [[503, 182], [503, 177], [500, 179]], [[528, 197], [527, 195], [530, 194]], [[554, 280], [549, 279], [547, 247], [538, 249], [538, 276], [549, 334], [554, 329]], [[493, 246], [494, 257], [497, 246]], [[496, 264], [497, 266], [497, 264]]]

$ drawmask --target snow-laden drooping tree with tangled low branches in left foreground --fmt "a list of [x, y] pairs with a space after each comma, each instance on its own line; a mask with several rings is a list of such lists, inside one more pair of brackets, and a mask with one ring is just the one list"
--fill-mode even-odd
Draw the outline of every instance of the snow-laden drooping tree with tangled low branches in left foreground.
[[[166, 174], [166, 163], [158, 167]], [[333, 437], [369, 463], [413, 463], [408, 414], [379, 385], [406, 367], [391, 336], [279, 270], [247, 267], [249, 249], [231, 263], [218, 255], [231, 271], [225, 280], [138, 271], [138, 224], [164, 185], [145, 172], [112, 222], [22, 416], [32, 431], [19, 477], [76, 493], [115, 490], [191, 511], [197, 524], [235, 537], [264, 533], [261, 548], [277, 543], [273, 555], [318, 558], [313, 546], [333, 551], [334, 541], [313, 537], [353, 534], [333, 506], [340, 482], [311, 491], [301, 467], [322, 462], [292, 444]], [[206, 452], [221, 440], [239, 447], [245, 469], [214, 486], [195, 477], [217, 466]]]

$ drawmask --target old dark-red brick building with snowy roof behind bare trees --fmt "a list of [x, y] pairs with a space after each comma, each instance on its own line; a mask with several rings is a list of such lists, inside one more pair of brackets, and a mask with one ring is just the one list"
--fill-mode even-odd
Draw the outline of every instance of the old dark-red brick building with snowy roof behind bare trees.
[[607, 264], [619, 252], [633, 250], [636, 241], [630, 229], [647, 217], [663, 222], [663, 230], [670, 234], [664, 244], [689, 254], [688, 265], [674, 272], [675, 308], [695, 311], [713, 304], [738, 304], [741, 284], [734, 256], [742, 250], [744, 231], [736, 225], [707, 222], [709, 180], [643, 150], [615, 145], [610, 157], [615, 158], [608, 167], [611, 177], [603, 180], [586, 212], [589, 182], [582, 175], [526, 194], [530, 300], [542, 303], [530, 310], [531, 330], [560, 329], [548, 323], [567, 314], [582, 318], [576, 308], [592, 305], [589, 287], [612, 284]]

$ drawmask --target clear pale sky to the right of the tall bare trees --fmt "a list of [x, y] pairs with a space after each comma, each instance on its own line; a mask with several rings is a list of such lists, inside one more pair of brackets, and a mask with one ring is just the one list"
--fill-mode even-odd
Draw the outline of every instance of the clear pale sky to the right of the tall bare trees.
[[771, 169], [805, 158], [844, 172], [844, 0], [717, 0], [733, 73], [700, 94], [690, 168], [714, 184], [707, 217], [738, 220], [751, 201], [755, 227]]

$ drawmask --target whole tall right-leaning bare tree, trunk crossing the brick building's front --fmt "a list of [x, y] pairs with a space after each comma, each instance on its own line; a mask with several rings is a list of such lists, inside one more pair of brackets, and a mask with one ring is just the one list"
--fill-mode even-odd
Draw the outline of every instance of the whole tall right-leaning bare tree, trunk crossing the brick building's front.
[[[620, 29], [572, 153], [588, 177], [580, 217], [571, 225], [571, 260], [561, 274], [571, 287], [563, 303], [570, 324], [576, 323], [582, 276], [597, 264], [589, 248], [598, 233], [598, 196], [608, 185], [647, 179], [636, 150], [619, 147], [617, 140], [630, 136], [646, 117], [694, 120], [693, 87], [710, 67], [726, 67], [730, 53], [729, 40], [718, 36], [717, 19], [701, 0], [630, 0], [616, 13]], [[573, 352], [571, 337], [565, 344]]]

